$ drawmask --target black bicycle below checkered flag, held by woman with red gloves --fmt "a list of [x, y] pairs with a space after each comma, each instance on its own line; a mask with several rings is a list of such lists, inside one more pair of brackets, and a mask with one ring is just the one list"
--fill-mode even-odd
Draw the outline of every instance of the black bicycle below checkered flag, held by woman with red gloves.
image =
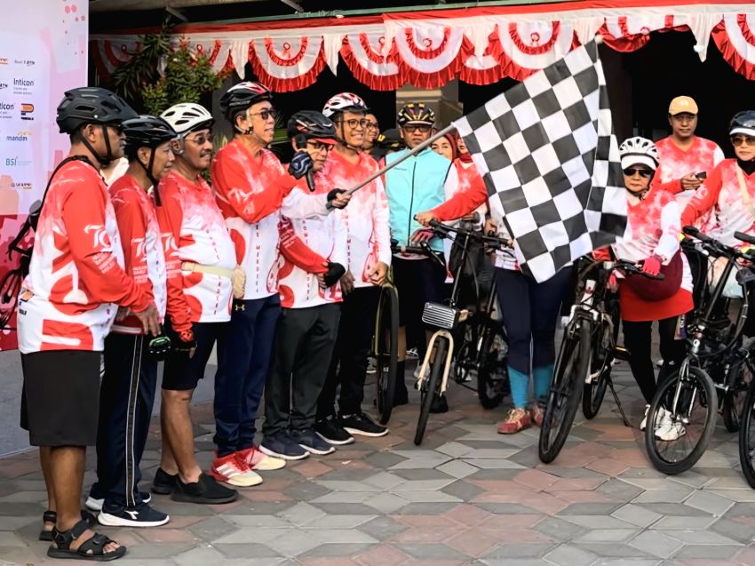
[[[663, 277], [648, 275], [634, 263], [622, 259], [595, 261], [585, 258], [583, 261], [589, 263], [577, 277], [576, 296], [580, 300], [572, 305], [564, 329], [540, 428], [537, 452], [545, 464], [551, 463], [563, 448], [580, 397], [583, 398], [585, 416], [589, 414], [588, 418], [592, 418], [600, 410], [610, 387], [624, 425], [630, 426], [610, 375], [614, 359], [623, 356], [622, 349], [616, 347], [618, 305], [615, 293], [608, 290], [608, 276], [618, 269], [631, 276]], [[596, 268], [599, 269], [597, 275], [592, 275]], [[582, 387], [579, 387], [580, 383]]]

